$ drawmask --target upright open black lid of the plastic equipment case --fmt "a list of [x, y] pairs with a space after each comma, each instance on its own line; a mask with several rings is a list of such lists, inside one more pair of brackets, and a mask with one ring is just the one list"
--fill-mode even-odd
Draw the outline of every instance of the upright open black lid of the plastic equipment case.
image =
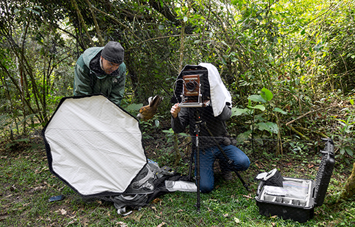
[[323, 155], [319, 171], [316, 175], [316, 186], [314, 188], [315, 204], [314, 206], [321, 206], [324, 202], [325, 193], [332, 177], [334, 169], [334, 142], [331, 139], [322, 139], [325, 142], [325, 147], [321, 150]]

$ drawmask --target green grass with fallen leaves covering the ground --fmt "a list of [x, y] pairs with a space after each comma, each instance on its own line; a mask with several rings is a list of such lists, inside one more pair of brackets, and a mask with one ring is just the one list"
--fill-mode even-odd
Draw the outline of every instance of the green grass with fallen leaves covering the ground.
[[[298, 157], [268, 155], [255, 159], [241, 173], [250, 183], [248, 192], [237, 177], [216, 180], [212, 193], [201, 194], [200, 213], [196, 193], [175, 192], [155, 199], [142, 210], [122, 217], [113, 204], [83, 200], [71, 188], [50, 173], [41, 141], [23, 142], [23, 146], [1, 149], [0, 226], [354, 226], [355, 199], [338, 201], [341, 186], [349, 176], [344, 164], [337, 163], [323, 206], [314, 209], [314, 218], [299, 224], [292, 220], [259, 215], [255, 202], [260, 170], [277, 168], [282, 175], [314, 179], [319, 155]], [[148, 157], [150, 158], [150, 157]], [[169, 166], [169, 164], [168, 164]], [[186, 169], [186, 166], [185, 166]], [[65, 199], [48, 202], [53, 195]]]

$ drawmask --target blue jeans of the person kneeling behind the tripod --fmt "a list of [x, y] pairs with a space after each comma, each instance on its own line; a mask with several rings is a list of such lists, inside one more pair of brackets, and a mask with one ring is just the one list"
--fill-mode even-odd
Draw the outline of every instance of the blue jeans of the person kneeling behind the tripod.
[[[213, 173], [213, 163], [216, 159], [220, 160], [221, 169], [224, 171], [245, 171], [249, 168], [250, 160], [248, 156], [239, 148], [233, 145], [220, 144], [224, 153], [230, 160], [234, 161], [235, 169], [228, 168], [226, 158], [217, 146], [209, 147], [208, 149], [200, 150], [200, 191], [209, 193], [213, 190], [215, 177]], [[197, 171], [196, 153], [195, 153], [195, 175]]]

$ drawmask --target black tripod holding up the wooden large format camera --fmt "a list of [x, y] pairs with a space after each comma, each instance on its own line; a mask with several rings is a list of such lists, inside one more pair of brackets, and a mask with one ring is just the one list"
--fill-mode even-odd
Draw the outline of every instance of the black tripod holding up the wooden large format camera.
[[217, 145], [219, 151], [221, 151], [221, 153], [224, 155], [224, 158], [226, 158], [228, 166], [230, 166], [233, 169], [233, 171], [235, 172], [235, 174], [237, 175], [237, 177], [241, 181], [241, 184], [243, 184], [243, 186], [246, 188], [246, 190], [249, 191], [249, 187], [248, 187], [249, 185], [246, 184], [246, 182], [244, 182], [243, 178], [241, 178], [241, 175], [239, 175], [238, 171], [235, 169], [234, 160], [231, 160], [228, 157], [228, 155], [226, 155], [226, 153], [224, 152], [222, 147], [219, 145], [219, 143], [217, 142], [217, 140], [215, 139], [215, 137], [213, 136], [211, 131], [207, 128], [206, 122], [202, 122], [199, 109], [196, 109], [195, 110], [195, 136], [196, 136], [195, 151], [193, 151], [191, 153], [191, 160], [190, 160], [190, 166], [189, 166], [189, 177], [191, 179], [194, 152], [196, 152], [196, 184], [197, 184], [196, 206], [197, 206], [197, 212], [200, 212], [200, 206], [201, 206], [201, 203], [200, 203], [200, 177], [201, 176], [200, 176], [200, 150], [199, 150], [199, 136], [200, 136], [201, 125], [204, 125], [206, 131], [208, 131], [211, 138], [213, 138], [213, 141]]

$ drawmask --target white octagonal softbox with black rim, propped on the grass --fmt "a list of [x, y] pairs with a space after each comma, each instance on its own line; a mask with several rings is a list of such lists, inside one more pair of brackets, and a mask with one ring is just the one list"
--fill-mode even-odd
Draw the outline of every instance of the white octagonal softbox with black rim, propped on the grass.
[[63, 98], [42, 135], [50, 171], [84, 197], [124, 193], [147, 164], [138, 120], [103, 95]]

